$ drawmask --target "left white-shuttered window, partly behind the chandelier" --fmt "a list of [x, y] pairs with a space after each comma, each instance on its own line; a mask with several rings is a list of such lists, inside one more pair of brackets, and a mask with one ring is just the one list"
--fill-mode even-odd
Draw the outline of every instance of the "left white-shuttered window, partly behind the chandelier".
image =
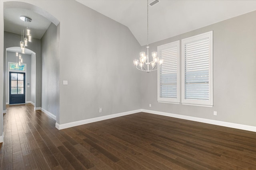
[[180, 102], [179, 52], [180, 41], [157, 47], [159, 59], [164, 63], [158, 69], [158, 102]]

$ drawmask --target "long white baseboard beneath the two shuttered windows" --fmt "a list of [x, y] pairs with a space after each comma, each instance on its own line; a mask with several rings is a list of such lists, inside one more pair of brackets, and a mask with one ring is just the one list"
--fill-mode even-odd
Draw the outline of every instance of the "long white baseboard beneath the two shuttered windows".
[[231, 127], [231, 128], [235, 128], [235, 129], [242, 129], [242, 130], [246, 130], [246, 131], [256, 132], [255, 126], [242, 125], [242, 124], [237, 124], [237, 123], [230, 123], [230, 122], [211, 120], [211, 119], [204, 119], [204, 118], [192, 117], [192, 116], [186, 116], [186, 115], [178, 115], [178, 114], [173, 114], [173, 113], [166, 113], [166, 112], [162, 112], [162, 111], [153, 111], [153, 110], [147, 110], [147, 109], [141, 109], [141, 111], [146, 112], [146, 113], [156, 114], [156, 115], [175, 117], [178, 119], [186, 119], [186, 120], [191, 120], [191, 121], [208, 123], [208, 124], [212, 124], [212, 125], [219, 125], [219, 126], [224, 126], [224, 127]]

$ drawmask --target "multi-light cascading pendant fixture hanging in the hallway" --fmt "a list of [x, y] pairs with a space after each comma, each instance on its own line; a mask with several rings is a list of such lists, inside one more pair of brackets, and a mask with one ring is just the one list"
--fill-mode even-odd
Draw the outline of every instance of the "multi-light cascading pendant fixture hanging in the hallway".
[[[22, 23], [20, 53], [18, 51], [16, 51], [16, 67], [18, 67], [18, 65], [20, 66], [20, 64], [23, 63], [22, 54], [25, 54], [25, 48], [26, 48], [26, 46], [28, 46], [28, 42], [32, 42], [32, 36], [30, 33], [30, 29], [29, 29], [29, 23], [32, 21], [32, 19], [27, 16], [20, 16], [20, 20], [26, 22], [26, 24], [25, 24], [26, 30], [25, 30], [25, 34], [24, 34], [24, 28], [23, 28], [23, 23]], [[18, 57], [19, 57], [19, 61], [18, 61]]]

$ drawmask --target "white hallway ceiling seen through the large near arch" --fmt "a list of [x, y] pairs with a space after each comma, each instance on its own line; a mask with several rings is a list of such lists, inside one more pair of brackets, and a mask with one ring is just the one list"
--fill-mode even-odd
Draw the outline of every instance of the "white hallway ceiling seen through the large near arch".
[[[28, 16], [32, 19], [30, 23], [20, 20], [20, 16]], [[21, 8], [4, 9], [4, 31], [21, 34], [22, 28], [30, 27], [33, 38], [41, 39], [49, 27], [51, 21], [31, 10]], [[18, 43], [19, 45], [19, 43]]]

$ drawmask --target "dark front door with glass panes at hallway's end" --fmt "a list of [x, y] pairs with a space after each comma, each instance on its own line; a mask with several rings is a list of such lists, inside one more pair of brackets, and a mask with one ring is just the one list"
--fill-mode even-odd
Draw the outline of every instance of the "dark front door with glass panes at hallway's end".
[[10, 72], [9, 104], [25, 103], [25, 73]]

